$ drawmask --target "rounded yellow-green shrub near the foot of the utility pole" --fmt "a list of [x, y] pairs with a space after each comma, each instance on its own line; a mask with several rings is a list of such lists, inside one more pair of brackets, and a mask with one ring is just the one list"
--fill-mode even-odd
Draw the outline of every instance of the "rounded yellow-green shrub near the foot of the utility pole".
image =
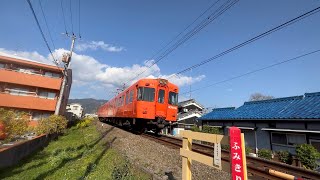
[[37, 134], [62, 133], [67, 128], [67, 119], [63, 116], [51, 115], [39, 120], [36, 127]]

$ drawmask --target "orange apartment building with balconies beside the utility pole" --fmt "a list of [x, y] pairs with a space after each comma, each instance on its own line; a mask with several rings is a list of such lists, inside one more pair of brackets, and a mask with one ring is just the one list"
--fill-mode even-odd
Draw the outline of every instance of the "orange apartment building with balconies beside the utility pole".
[[[61, 115], [65, 113], [72, 83], [72, 71], [67, 74]], [[0, 55], [0, 108], [25, 111], [34, 121], [48, 117], [55, 112], [62, 80], [61, 68]]]

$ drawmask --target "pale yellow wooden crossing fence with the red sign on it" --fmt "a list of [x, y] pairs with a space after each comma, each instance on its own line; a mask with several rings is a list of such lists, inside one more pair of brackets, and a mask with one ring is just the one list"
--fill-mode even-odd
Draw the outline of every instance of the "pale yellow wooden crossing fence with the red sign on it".
[[[233, 127], [235, 128], [235, 127]], [[240, 130], [237, 132], [240, 133]], [[230, 133], [231, 134], [231, 133]], [[224, 170], [227, 172], [231, 172], [232, 179], [235, 180], [247, 180], [247, 166], [246, 166], [246, 155], [245, 155], [245, 146], [244, 146], [244, 134], [239, 134], [239, 146], [237, 146], [240, 150], [241, 155], [239, 159], [241, 161], [241, 174], [242, 176], [236, 175], [239, 173], [239, 169], [235, 169], [235, 167], [239, 166], [235, 164], [237, 160], [237, 156], [233, 156], [230, 151], [230, 163], [221, 161], [221, 144], [222, 145], [230, 145], [230, 150], [233, 148], [231, 142], [234, 143], [234, 140], [237, 139], [234, 134], [232, 136], [224, 136], [218, 134], [208, 134], [208, 133], [200, 133], [193, 131], [181, 131], [181, 136], [183, 138], [183, 146], [180, 149], [180, 155], [182, 156], [182, 179], [183, 180], [191, 180], [191, 164], [192, 160], [198, 161], [200, 163], [206, 164], [208, 166], [217, 168], [219, 170]], [[241, 140], [240, 140], [241, 139]], [[205, 142], [214, 143], [214, 156], [207, 156], [197, 152], [192, 151], [192, 140], [200, 140]], [[234, 149], [233, 149], [234, 150]], [[234, 155], [237, 155], [236, 152], [233, 152]]]

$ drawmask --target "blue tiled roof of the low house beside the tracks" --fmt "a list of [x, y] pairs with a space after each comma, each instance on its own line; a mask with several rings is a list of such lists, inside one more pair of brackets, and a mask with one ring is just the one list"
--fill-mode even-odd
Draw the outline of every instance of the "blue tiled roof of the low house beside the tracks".
[[320, 119], [320, 92], [245, 102], [239, 108], [216, 108], [199, 119]]

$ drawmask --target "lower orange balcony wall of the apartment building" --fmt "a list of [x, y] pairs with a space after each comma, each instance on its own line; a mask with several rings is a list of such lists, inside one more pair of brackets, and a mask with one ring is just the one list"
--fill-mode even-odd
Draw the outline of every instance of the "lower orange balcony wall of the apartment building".
[[56, 104], [56, 99], [0, 93], [0, 107], [55, 111]]

